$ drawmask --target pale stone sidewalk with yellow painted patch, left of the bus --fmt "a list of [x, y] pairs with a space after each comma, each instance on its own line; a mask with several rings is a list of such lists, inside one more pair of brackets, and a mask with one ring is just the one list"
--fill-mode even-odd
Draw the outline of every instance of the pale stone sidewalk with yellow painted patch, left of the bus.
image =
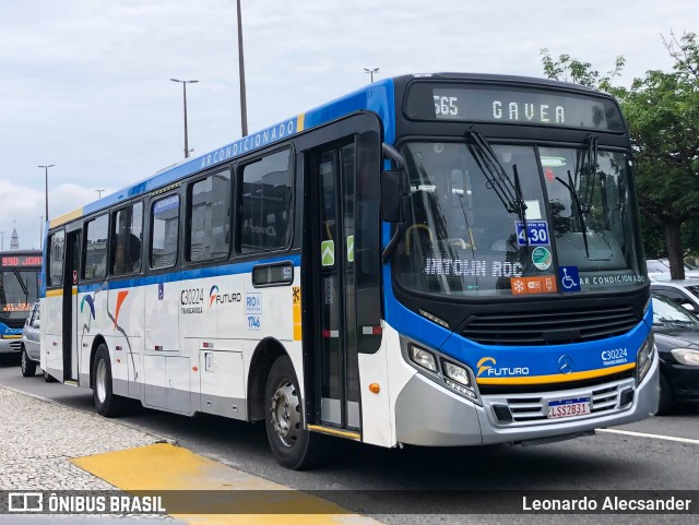
[[[107, 419], [0, 386], [0, 491], [120, 490], [127, 494], [179, 491], [185, 501], [185, 504], [174, 505], [180, 509], [174, 516], [129, 515], [108, 520], [120, 524], [135, 518], [139, 524], [169, 525], [180, 523], [177, 518], [199, 525], [281, 522], [379, 525], [379, 522], [350, 514], [327, 500], [164, 441], [118, 419]], [[221, 506], [211, 506], [216, 503]], [[216, 512], [213, 509], [226, 509], [218, 512], [236, 514], [211, 514]], [[286, 512], [284, 509], [292, 509], [293, 514], [282, 514]], [[0, 525], [73, 522], [93, 525], [97, 518], [105, 520], [97, 515], [0, 514]]]

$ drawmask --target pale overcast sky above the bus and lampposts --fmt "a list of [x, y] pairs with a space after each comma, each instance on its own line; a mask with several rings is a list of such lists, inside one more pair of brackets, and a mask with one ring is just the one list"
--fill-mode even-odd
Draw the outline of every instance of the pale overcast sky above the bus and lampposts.
[[[670, 69], [661, 35], [697, 32], [694, 0], [242, 0], [248, 129], [377, 77], [542, 76], [541, 49], [620, 83]], [[691, 25], [694, 24], [694, 25]], [[240, 136], [235, 0], [0, 0], [0, 231], [39, 244], [49, 216]]]

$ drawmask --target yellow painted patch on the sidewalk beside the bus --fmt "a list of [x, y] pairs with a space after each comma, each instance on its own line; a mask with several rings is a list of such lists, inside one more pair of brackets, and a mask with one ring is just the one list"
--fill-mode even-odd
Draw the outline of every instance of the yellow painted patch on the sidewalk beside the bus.
[[[350, 514], [330, 501], [298, 492], [167, 443], [78, 457], [71, 461], [126, 492], [227, 490], [230, 491], [230, 498], [226, 498], [226, 503], [230, 502], [244, 512], [245, 509], [263, 509], [265, 512], [274, 512], [275, 508], [292, 509], [296, 512], [295, 514], [173, 514], [173, 517], [190, 524], [376, 525], [380, 523], [369, 517]], [[284, 496], [285, 493], [288, 496]]]

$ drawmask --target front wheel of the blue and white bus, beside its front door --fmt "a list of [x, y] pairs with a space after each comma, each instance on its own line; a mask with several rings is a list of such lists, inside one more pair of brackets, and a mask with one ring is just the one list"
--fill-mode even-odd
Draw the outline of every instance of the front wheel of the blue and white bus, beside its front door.
[[304, 428], [299, 394], [292, 360], [277, 357], [266, 379], [264, 427], [275, 460], [293, 470], [312, 468], [322, 458], [322, 435]]

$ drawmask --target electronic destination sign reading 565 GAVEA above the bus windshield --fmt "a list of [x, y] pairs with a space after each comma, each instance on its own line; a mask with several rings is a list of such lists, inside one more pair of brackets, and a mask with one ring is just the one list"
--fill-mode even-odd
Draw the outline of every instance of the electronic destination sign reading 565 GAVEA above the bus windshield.
[[564, 126], [624, 131], [608, 99], [529, 87], [415, 83], [406, 104], [415, 120]]

